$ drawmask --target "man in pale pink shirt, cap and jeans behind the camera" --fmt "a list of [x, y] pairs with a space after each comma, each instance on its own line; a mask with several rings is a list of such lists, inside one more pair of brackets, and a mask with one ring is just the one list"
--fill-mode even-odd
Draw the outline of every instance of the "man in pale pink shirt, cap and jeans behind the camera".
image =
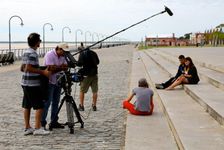
[[67, 63], [64, 58], [64, 51], [68, 51], [68, 44], [60, 43], [55, 49], [46, 53], [44, 57], [44, 65], [48, 67], [48, 70], [52, 71], [48, 84], [48, 100], [45, 102], [44, 112], [42, 114], [41, 124], [45, 128], [47, 121], [48, 109], [51, 104], [51, 128], [64, 128], [64, 126], [58, 123], [58, 105], [61, 95], [61, 87], [57, 85], [56, 76], [60, 71], [67, 70]]

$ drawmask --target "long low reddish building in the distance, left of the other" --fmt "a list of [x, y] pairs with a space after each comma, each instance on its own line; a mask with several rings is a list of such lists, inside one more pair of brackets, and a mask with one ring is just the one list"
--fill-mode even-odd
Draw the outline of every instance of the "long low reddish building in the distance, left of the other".
[[167, 37], [146, 37], [145, 39], [147, 46], [187, 46], [189, 40], [178, 39], [175, 34]]

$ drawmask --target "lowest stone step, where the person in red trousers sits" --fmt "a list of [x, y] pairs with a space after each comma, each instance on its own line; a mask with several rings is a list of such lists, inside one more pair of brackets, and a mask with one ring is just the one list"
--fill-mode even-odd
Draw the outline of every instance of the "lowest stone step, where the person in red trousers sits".
[[[138, 52], [134, 52], [130, 92], [138, 86], [138, 80], [142, 77], [149, 81], [145, 66], [138, 56]], [[154, 95], [154, 104], [155, 108], [152, 116], [135, 116], [127, 113], [125, 150], [178, 149], [166, 117], [159, 108], [156, 94]]]

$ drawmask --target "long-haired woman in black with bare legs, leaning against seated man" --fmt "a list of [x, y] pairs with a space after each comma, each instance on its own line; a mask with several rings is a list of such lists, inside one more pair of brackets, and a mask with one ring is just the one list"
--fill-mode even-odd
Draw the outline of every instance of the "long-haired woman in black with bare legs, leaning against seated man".
[[180, 84], [197, 84], [200, 81], [197, 69], [190, 57], [186, 57], [184, 74], [177, 78], [166, 90], [172, 90]]

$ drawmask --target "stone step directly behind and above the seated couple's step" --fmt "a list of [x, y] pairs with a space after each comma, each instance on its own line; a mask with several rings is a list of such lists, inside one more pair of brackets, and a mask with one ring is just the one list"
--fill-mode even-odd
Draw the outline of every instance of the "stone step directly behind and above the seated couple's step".
[[[164, 59], [175, 63], [177, 66], [179, 65], [178, 56], [168, 52], [158, 50], [158, 49], [153, 49], [152, 51], [162, 56]], [[195, 63], [197, 61], [193, 60], [193, 62]], [[201, 64], [203, 63], [201, 62]], [[210, 84], [224, 90], [224, 73], [215, 71], [213, 69], [209, 69], [208, 67], [203, 67], [203, 65], [200, 65], [199, 63], [195, 63], [195, 65], [197, 65], [200, 78], [203, 78], [204, 80], [208, 81]]]

